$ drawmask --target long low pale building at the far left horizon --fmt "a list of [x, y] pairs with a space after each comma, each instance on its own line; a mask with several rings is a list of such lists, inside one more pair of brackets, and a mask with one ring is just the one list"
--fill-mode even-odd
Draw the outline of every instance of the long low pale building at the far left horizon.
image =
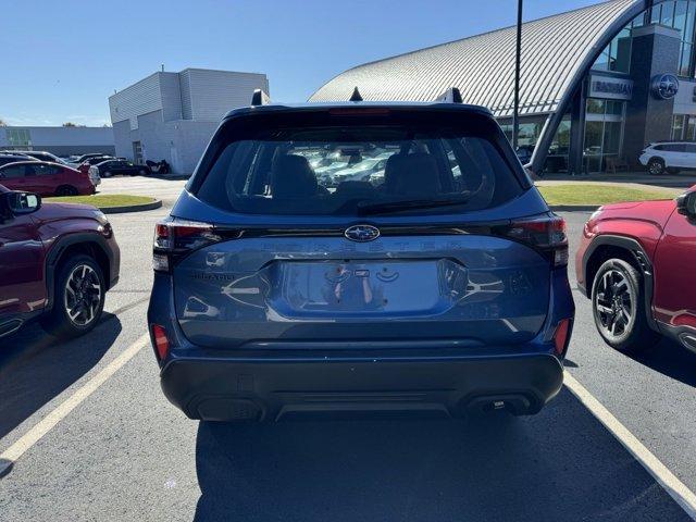
[[45, 150], [57, 156], [114, 153], [111, 127], [0, 126], [0, 150]]

